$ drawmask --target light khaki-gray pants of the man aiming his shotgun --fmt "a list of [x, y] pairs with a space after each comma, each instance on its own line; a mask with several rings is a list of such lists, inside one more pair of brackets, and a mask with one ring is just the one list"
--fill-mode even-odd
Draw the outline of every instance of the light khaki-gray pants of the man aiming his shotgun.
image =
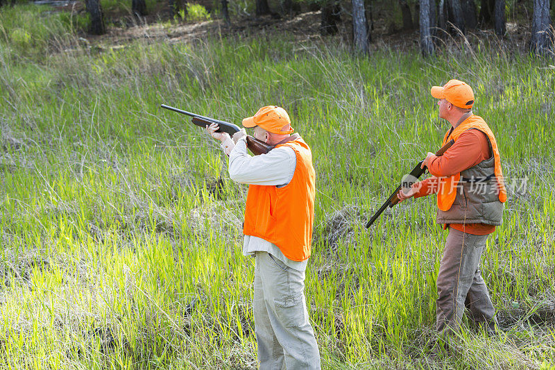
[[253, 307], [260, 369], [321, 369], [305, 303], [305, 271], [256, 252]]

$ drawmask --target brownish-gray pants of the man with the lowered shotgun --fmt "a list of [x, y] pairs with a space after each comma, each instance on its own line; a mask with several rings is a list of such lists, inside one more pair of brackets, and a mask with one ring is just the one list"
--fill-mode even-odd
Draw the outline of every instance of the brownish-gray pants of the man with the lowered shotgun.
[[437, 281], [436, 324], [440, 335], [459, 328], [465, 307], [475, 323], [495, 330], [495, 309], [479, 267], [486, 239], [488, 235], [449, 230]]

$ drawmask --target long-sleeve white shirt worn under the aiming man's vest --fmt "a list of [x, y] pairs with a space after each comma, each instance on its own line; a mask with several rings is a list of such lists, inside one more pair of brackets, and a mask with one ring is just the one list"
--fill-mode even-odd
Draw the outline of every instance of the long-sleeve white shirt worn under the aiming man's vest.
[[[232, 144], [233, 142], [223, 142], [222, 147], [230, 155], [230, 178], [237, 183], [283, 187], [293, 178], [297, 156], [288, 146], [272, 149], [267, 154], [251, 156], [247, 153], [246, 137], [241, 137], [234, 146]], [[257, 251], [270, 253], [291, 269], [303, 271], [307, 267], [307, 260], [289, 260], [275, 244], [260, 237], [245, 235], [243, 254], [254, 256]]]

